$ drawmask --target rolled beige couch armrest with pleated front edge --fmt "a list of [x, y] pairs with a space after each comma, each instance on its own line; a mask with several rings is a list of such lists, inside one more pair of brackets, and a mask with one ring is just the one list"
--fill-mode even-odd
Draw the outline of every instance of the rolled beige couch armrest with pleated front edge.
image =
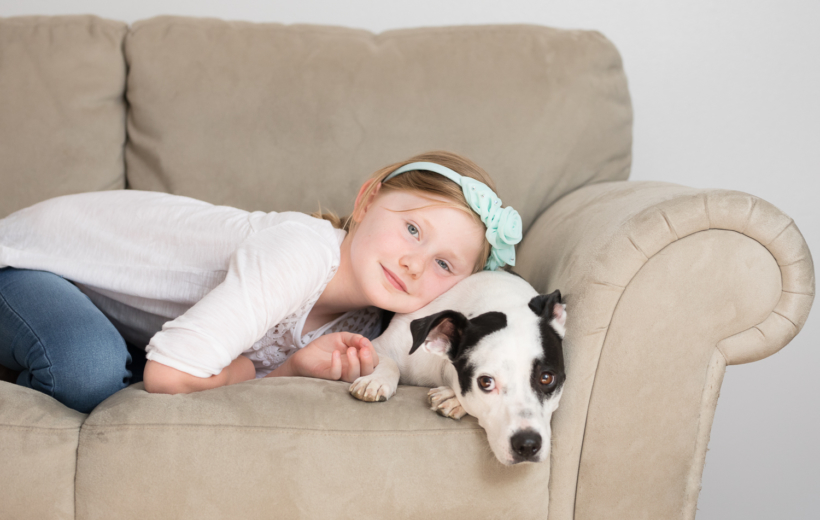
[[601, 183], [544, 212], [518, 257], [569, 314], [550, 520], [694, 518], [726, 365], [777, 352], [814, 299], [797, 226], [744, 193]]

